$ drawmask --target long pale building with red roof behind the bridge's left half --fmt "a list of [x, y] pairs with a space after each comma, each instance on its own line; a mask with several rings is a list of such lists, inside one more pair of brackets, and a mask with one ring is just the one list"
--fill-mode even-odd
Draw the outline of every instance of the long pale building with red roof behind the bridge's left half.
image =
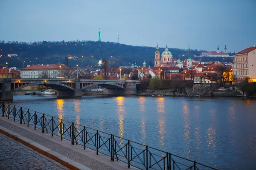
[[45, 74], [49, 78], [60, 77], [60, 71], [63, 65], [60, 64], [47, 64], [47, 65], [28, 65], [26, 68], [21, 70], [22, 79], [36, 79], [41, 78]]

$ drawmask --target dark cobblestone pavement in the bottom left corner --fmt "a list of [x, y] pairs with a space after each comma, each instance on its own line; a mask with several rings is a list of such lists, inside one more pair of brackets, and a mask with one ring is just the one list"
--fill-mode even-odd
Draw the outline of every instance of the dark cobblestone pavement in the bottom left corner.
[[69, 170], [3, 133], [0, 144], [0, 170]]

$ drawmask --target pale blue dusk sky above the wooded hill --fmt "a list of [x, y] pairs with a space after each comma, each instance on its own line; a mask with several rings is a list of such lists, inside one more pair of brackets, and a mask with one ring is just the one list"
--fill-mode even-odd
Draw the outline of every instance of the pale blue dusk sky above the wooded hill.
[[0, 0], [0, 40], [101, 40], [238, 52], [256, 44], [256, 0]]

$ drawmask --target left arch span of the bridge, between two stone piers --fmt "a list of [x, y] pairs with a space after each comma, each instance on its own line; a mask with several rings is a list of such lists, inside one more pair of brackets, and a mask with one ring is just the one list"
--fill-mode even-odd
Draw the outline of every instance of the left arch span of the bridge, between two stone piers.
[[72, 90], [72, 91], [75, 91], [75, 88], [71, 88], [70, 86], [64, 85], [64, 84], [59, 83], [59, 82], [47, 82], [47, 83], [45, 83], [45, 82], [31, 82], [29, 84], [22, 85], [18, 88], [15, 88], [12, 91], [16, 92], [16, 91], [18, 91], [22, 88], [25, 88], [25, 87], [28, 87], [28, 86], [31, 86], [31, 85], [44, 85], [46, 87], [53, 88], [55, 90]]

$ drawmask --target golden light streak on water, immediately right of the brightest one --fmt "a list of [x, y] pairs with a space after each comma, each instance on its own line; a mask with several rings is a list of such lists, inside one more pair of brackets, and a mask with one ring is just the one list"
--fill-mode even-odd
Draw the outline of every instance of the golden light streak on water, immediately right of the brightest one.
[[141, 127], [141, 141], [143, 142], [143, 144], [145, 144], [145, 138], [146, 138], [146, 119], [145, 119], [145, 96], [140, 96], [138, 97], [139, 100], [139, 104], [140, 104], [140, 113], [141, 113], [141, 117], [140, 117], [140, 127]]

